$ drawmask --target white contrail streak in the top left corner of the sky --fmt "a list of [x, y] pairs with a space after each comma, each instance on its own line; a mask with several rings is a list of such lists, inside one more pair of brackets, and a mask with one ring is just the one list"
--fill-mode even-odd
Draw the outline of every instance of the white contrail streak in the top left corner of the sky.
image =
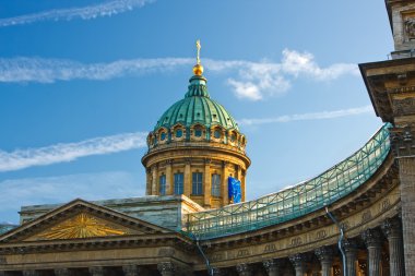
[[0, 27], [31, 24], [39, 21], [71, 21], [75, 19], [92, 20], [104, 16], [112, 16], [115, 14], [131, 11], [135, 8], [141, 8], [151, 2], [154, 2], [154, 0], [114, 0], [86, 7], [49, 10], [14, 17], [0, 19]]

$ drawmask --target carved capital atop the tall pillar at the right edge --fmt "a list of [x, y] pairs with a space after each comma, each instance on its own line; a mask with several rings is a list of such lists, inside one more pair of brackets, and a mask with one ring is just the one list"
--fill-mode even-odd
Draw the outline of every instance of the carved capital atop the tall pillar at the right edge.
[[399, 158], [415, 155], [415, 125], [404, 125], [390, 130], [392, 151]]

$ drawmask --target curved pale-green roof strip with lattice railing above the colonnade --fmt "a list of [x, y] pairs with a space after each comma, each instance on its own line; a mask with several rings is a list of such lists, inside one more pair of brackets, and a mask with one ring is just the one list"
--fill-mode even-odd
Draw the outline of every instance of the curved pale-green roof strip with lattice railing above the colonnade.
[[360, 149], [320, 176], [254, 201], [188, 214], [185, 233], [212, 239], [281, 224], [320, 209], [364, 184], [390, 151], [390, 124]]

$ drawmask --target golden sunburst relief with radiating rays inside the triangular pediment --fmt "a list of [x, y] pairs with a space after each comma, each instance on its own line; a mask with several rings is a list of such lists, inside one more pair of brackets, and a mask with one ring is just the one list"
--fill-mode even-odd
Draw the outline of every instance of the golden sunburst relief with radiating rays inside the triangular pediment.
[[37, 238], [47, 240], [85, 239], [93, 237], [121, 236], [126, 233], [128, 233], [127, 229], [116, 229], [99, 218], [87, 214], [79, 214], [51, 229], [42, 232]]

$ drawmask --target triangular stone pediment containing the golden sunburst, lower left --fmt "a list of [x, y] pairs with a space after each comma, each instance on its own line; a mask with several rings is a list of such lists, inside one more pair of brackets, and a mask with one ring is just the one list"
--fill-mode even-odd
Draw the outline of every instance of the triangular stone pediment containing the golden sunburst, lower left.
[[74, 200], [0, 236], [0, 243], [166, 232], [171, 231], [91, 202]]

